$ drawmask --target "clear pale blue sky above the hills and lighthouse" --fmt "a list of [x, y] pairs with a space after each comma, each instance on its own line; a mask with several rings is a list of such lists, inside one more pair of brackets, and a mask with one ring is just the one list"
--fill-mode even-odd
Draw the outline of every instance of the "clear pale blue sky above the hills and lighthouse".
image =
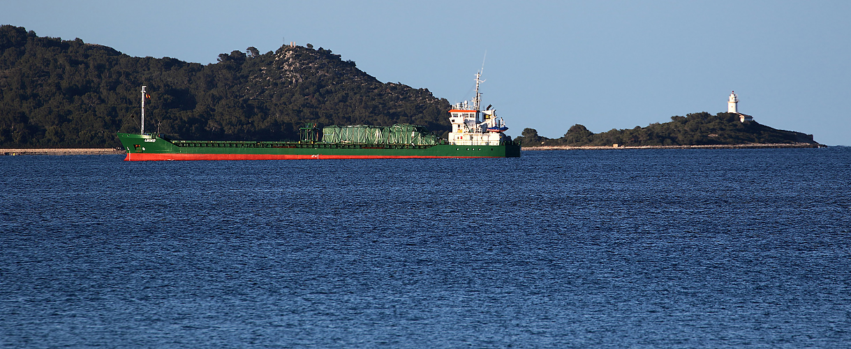
[[483, 103], [550, 138], [739, 110], [851, 146], [849, 1], [13, 0], [0, 24], [134, 56], [212, 63], [283, 43], [331, 49], [382, 82]]

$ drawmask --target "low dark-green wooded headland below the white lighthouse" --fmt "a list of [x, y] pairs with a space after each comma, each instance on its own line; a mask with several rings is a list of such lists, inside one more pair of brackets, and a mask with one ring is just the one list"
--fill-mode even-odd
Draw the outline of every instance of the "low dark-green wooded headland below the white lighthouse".
[[635, 129], [612, 129], [594, 134], [576, 124], [562, 138], [541, 137], [535, 129], [524, 129], [517, 137], [523, 146], [700, 146], [745, 143], [811, 143], [812, 134], [772, 129], [754, 121], [740, 122], [738, 114], [708, 112], [671, 117], [669, 123], [652, 123]]

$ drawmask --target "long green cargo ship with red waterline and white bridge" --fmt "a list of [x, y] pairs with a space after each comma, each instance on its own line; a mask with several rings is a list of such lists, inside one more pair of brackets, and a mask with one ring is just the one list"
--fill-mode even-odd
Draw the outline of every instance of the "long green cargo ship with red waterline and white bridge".
[[272, 160], [343, 158], [520, 157], [520, 143], [503, 132], [505, 123], [490, 106], [481, 110], [476, 96], [449, 111], [452, 132], [438, 139], [422, 126], [328, 126], [308, 123], [298, 141], [169, 140], [145, 133], [145, 86], [142, 86], [142, 132], [119, 133], [126, 161], [146, 160]]

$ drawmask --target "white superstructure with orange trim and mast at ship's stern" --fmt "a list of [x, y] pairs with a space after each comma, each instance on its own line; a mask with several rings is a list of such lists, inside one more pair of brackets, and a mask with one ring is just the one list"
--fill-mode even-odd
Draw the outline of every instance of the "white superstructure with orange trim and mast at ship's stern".
[[482, 80], [482, 72], [476, 73], [476, 96], [472, 106], [465, 100], [456, 103], [449, 111], [449, 123], [452, 132], [449, 133], [449, 144], [457, 146], [499, 146], [502, 140], [508, 140], [503, 132], [508, 129], [502, 117], [496, 117], [496, 110], [490, 106], [481, 110], [482, 94], [478, 87]]

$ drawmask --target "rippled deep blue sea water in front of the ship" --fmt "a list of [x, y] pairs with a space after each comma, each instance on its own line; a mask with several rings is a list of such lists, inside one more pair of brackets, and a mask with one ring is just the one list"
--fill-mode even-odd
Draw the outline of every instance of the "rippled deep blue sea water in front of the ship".
[[0, 157], [0, 346], [851, 346], [851, 148], [122, 159]]

